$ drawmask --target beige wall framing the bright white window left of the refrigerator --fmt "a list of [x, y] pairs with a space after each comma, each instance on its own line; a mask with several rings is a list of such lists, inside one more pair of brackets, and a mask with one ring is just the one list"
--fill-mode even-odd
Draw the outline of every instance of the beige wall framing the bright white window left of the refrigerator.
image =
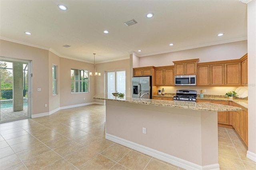
[[[128, 54], [127, 54], [128, 55]], [[101, 73], [101, 76], [95, 77], [95, 94], [106, 92], [106, 71], [125, 69], [126, 74], [126, 97], [130, 97], [130, 60], [124, 59], [119, 61], [112, 61], [108, 63], [96, 64], [96, 71]], [[102, 100], [96, 100], [102, 103]]]

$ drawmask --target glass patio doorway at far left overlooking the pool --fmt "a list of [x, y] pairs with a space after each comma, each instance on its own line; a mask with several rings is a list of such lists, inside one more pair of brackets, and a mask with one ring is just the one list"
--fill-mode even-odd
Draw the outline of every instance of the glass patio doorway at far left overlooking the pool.
[[0, 123], [31, 118], [31, 61], [0, 57]]

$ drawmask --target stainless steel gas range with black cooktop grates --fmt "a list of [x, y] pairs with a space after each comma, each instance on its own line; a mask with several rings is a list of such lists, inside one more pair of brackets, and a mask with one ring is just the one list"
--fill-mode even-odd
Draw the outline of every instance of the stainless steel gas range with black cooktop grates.
[[196, 102], [196, 90], [177, 90], [173, 100]]

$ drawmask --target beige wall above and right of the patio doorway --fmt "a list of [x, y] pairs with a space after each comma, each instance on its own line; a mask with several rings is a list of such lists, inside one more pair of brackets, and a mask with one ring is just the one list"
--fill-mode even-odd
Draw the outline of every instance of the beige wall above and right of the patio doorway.
[[0, 56], [32, 61], [32, 114], [49, 112], [48, 50], [0, 40]]

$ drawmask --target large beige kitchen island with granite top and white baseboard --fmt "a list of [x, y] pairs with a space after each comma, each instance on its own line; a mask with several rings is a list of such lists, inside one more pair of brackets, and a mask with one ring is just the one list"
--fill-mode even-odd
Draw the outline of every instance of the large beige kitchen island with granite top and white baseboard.
[[106, 139], [185, 169], [219, 169], [217, 112], [241, 110], [112, 95], [94, 99], [106, 100]]

